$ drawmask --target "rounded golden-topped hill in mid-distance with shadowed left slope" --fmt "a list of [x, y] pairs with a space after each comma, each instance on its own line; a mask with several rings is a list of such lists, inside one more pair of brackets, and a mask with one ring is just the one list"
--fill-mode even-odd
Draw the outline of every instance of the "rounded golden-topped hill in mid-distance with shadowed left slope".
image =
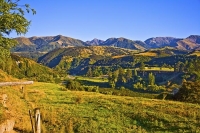
[[[49, 67], [56, 67], [62, 59], [67, 63], [77, 62], [81, 59], [96, 61], [99, 59], [109, 58], [112, 56], [129, 55], [135, 51], [128, 49], [120, 49], [115, 47], [90, 46], [90, 47], [70, 47], [53, 50], [38, 59], [39, 63], [43, 63]], [[78, 61], [79, 60], [79, 61]], [[84, 61], [83, 61], [84, 62]], [[88, 62], [88, 61], [87, 61]], [[88, 63], [89, 63], [88, 62]], [[78, 65], [78, 64], [76, 64]]]

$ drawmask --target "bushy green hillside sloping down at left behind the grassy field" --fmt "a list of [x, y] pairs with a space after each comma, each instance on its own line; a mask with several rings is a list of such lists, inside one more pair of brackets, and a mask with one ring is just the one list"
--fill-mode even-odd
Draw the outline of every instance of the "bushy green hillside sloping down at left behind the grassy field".
[[3, 61], [3, 63], [0, 64], [1, 79], [5, 78], [3, 81], [9, 80], [10, 78], [12, 80], [12, 77], [15, 77], [18, 79], [54, 82], [54, 79], [59, 75], [58, 72], [44, 65], [15, 54], [0, 59]]

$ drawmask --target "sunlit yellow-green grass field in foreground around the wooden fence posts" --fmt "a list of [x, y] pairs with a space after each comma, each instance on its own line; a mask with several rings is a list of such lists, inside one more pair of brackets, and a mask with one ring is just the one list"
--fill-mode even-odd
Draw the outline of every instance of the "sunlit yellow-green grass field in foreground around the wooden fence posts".
[[2, 88], [11, 98], [9, 102], [18, 103], [9, 105], [19, 115], [15, 128], [30, 132], [28, 109], [39, 107], [43, 132], [200, 132], [197, 104], [61, 88], [34, 83], [26, 86], [25, 95], [11, 87]]

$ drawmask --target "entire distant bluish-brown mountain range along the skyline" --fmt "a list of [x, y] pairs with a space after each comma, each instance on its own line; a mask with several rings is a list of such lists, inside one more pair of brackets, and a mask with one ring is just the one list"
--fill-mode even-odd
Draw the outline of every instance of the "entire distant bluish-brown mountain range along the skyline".
[[18, 37], [18, 41], [12, 52], [49, 52], [56, 48], [80, 47], [80, 46], [112, 46], [132, 50], [148, 50], [152, 48], [173, 47], [180, 50], [195, 50], [200, 48], [200, 35], [190, 35], [187, 38], [153, 37], [145, 41], [135, 41], [127, 38], [108, 38], [107, 40], [93, 39], [81, 41], [62, 35], [45, 37]]

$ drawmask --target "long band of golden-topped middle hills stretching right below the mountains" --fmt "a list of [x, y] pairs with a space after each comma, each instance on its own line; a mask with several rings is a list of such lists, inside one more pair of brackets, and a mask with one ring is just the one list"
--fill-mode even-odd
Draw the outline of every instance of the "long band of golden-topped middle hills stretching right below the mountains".
[[[41, 56], [38, 63], [72, 75], [85, 75], [89, 67], [93, 70], [98, 67], [99, 71], [108, 71], [109, 68], [116, 69], [117, 67], [135, 68], [141, 62], [146, 62], [146, 64], [152, 66], [153, 64], [150, 61], [154, 58], [184, 54], [187, 55], [188, 51], [170, 47], [151, 49], [144, 52], [109, 46], [69, 47], [56, 49]], [[178, 61], [172, 61], [173, 63], [170, 63], [170, 65], [174, 65]], [[159, 64], [159, 66], [163, 64]]]

